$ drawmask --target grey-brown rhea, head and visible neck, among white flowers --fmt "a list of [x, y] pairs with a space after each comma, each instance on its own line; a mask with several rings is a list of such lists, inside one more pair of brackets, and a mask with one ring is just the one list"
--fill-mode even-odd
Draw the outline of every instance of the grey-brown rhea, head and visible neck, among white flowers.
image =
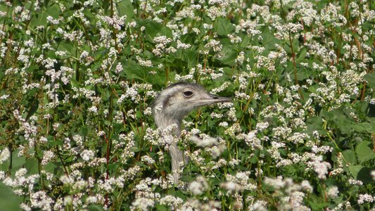
[[[231, 98], [210, 94], [201, 85], [190, 82], [177, 82], [165, 88], [153, 101], [153, 117], [158, 129], [166, 129], [175, 124], [172, 134], [179, 137], [181, 122], [192, 110], [215, 103], [231, 102]], [[179, 150], [177, 143], [169, 146], [172, 159], [172, 177], [174, 184], [179, 181], [180, 163], [184, 162], [184, 154]]]

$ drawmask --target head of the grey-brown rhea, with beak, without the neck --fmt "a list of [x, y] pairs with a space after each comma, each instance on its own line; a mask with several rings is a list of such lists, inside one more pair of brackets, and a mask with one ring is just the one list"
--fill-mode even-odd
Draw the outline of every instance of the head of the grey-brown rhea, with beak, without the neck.
[[[179, 82], [172, 84], [163, 91], [153, 103], [153, 113], [158, 127], [168, 119], [177, 123], [193, 109], [214, 103], [230, 102], [231, 98], [216, 96], [205, 91], [198, 84]], [[165, 123], [171, 123], [165, 122]]]

